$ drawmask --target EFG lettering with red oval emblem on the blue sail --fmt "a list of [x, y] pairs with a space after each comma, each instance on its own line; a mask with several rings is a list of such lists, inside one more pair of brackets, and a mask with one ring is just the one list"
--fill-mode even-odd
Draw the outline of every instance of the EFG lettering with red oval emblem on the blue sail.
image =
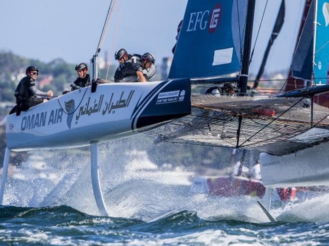
[[222, 8], [218, 3], [210, 10], [191, 12], [189, 14], [189, 21], [186, 32], [205, 30], [208, 27], [209, 33], [214, 33], [221, 16]]

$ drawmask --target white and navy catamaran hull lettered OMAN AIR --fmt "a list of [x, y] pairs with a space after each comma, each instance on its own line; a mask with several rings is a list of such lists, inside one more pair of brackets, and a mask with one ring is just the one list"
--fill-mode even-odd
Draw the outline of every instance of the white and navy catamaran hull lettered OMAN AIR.
[[104, 83], [67, 93], [11, 114], [7, 148], [67, 148], [105, 142], [152, 129], [190, 113], [190, 81]]

